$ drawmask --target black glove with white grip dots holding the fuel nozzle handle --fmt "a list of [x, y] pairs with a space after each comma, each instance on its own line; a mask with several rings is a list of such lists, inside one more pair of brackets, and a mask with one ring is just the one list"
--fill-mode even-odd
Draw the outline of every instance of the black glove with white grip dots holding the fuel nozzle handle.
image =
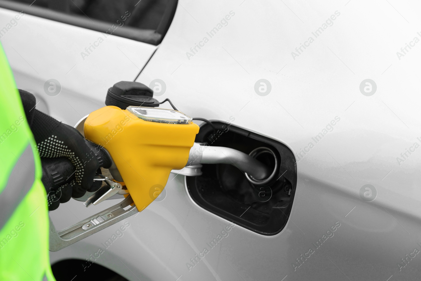
[[68, 158], [75, 167], [74, 180], [65, 180], [64, 184], [61, 182], [61, 186], [51, 185], [51, 182], [46, 184], [48, 182], [45, 179], [51, 175], [43, 174], [42, 180], [48, 194], [48, 209], [57, 209], [59, 203], [69, 201], [70, 196], [79, 198], [87, 190], [98, 190], [100, 182], [93, 186], [93, 177], [99, 169], [97, 153], [86, 144], [83, 136], [75, 128], [36, 110], [35, 97], [32, 94], [23, 90], [19, 90], [19, 93], [43, 166], [51, 163], [60, 165], [63, 159]]

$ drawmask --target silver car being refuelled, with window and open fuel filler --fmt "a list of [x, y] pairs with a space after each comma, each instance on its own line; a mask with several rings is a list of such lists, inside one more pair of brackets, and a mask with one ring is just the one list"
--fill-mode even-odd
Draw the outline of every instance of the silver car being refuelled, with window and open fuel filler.
[[[421, 3], [23, 2], [0, 1], [0, 40], [38, 109], [73, 126], [137, 81], [230, 124], [198, 122], [197, 142], [277, 159], [269, 185], [171, 173], [140, 213], [51, 252], [58, 281], [419, 279]], [[120, 201], [50, 216], [60, 230]]]

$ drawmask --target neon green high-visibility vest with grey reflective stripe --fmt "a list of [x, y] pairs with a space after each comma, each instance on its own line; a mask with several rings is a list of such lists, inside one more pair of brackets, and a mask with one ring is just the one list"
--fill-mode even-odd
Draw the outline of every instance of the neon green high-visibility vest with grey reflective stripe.
[[0, 45], [0, 280], [54, 281], [41, 161]]

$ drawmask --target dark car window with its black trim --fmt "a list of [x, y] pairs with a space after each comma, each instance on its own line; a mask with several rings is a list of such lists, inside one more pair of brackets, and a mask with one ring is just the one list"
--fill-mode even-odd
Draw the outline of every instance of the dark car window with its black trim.
[[15, 0], [0, 7], [157, 45], [176, 0]]

